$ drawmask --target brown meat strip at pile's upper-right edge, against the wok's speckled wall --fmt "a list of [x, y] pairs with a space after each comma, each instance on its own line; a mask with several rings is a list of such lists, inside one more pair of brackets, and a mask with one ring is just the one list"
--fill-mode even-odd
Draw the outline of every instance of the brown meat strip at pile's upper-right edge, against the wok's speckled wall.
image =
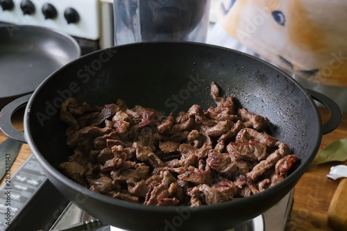
[[240, 108], [237, 112], [241, 120], [245, 123], [247, 128], [254, 128], [255, 130], [265, 130], [270, 122], [266, 117], [248, 112], [246, 108]]

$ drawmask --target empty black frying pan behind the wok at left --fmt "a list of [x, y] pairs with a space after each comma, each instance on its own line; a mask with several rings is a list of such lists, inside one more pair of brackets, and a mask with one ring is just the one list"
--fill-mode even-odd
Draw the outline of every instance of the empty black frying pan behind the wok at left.
[[0, 100], [33, 92], [53, 71], [81, 55], [64, 33], [37, 26], [0, 27]]

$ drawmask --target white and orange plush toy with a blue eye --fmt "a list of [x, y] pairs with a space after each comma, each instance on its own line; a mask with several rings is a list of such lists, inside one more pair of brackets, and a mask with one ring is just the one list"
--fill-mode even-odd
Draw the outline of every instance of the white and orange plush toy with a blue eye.
[[222, 25], [284, 69], [308, 73], [309, 81], [347, 87], [345, 23], [344, 0], [237, 0]]

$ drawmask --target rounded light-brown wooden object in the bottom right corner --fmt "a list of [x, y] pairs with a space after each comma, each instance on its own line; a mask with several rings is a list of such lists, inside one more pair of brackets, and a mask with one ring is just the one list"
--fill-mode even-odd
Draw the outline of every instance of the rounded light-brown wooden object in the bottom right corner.
[[328, 209], [328, 223], [335, 230], [347, 230], [347, 178], [337, 186]]

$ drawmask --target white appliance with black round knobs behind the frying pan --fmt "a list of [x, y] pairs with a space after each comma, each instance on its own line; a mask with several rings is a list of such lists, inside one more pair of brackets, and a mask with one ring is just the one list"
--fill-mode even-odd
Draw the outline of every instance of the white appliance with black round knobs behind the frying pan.
[[1, 0], [0, 22], [52, 28], [73, 36], [82, 55], [112, 46], [112, 5], [102, 0]]

